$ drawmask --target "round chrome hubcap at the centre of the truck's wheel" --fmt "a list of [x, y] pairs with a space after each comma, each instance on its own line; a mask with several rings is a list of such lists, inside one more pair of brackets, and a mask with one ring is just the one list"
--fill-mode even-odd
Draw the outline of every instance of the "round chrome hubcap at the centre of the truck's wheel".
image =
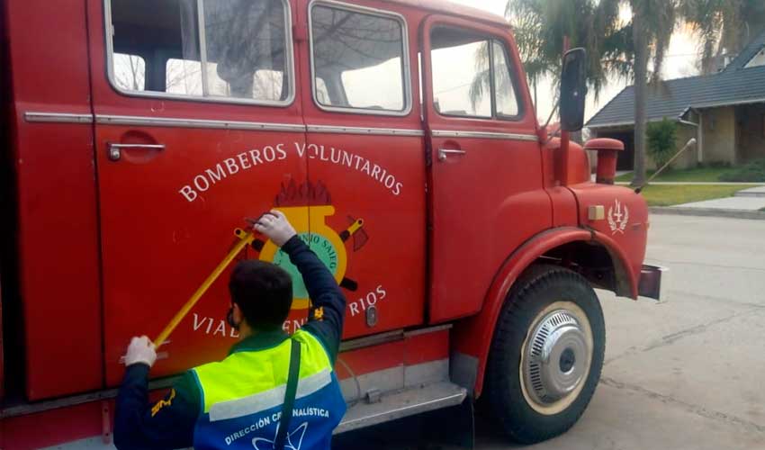
[[536, 324], [522, 367], [529, 400], [549, 406], [571, 394], [589, 373], [591, 348], [571, 311], [556, 310]]

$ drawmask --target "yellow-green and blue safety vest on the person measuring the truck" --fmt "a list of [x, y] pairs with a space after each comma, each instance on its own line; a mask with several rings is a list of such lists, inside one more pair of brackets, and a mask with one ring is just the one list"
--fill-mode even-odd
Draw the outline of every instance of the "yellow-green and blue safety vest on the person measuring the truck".
[[202, 405], [194, 428], [196, 450], [274, 448], [293, 342], [302, 355], [284, 448], [329, 449], [346, 403], [326, 349], [310, 332], [298, 330], [275, 347], [241, 348], [223, 361], [193, 369]]

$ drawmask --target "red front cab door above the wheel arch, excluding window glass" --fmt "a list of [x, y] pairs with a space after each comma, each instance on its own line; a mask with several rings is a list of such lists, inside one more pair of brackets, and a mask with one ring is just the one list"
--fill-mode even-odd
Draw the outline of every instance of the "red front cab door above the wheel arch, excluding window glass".
[[[496, 27], [432, 15], [423, 23], [424, 46], [431, 32], [449, 26], [504, 40], [511, 67], [522, 67], [515, 43]], [[426, 98], [434, 97], [430, 52], [423, 53]], [[518, 118], [508, 121], [448, 117], [426, 102], [431, 158], [442, 149], [464, 151], [431, 167], [430, 306], [433, 321], [454, 320], [481, 311], [483, 300], [507, 249], [518, 247], [552, 226], [550, 198], [543, 189], [536, 117], [522, 72], [512, 74], [520, 95]], [[512, 147], [494, 136], [515, 135]], [[494, 175], [501, 167], [502, 176]], [[490, 181], [491, 180], [491, 181]], [[519, 220], [523, 218], [523, 220]], [[486, 224], [496, 226], [485, 226]]]

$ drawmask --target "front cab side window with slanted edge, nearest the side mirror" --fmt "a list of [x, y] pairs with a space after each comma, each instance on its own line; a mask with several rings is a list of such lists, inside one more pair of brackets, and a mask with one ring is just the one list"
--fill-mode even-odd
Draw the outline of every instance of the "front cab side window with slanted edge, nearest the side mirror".
[[518, 117], [513, 71], [499, 40], [439, 26], [432, 31], [430, 52], [437, 112], [483, 119]]

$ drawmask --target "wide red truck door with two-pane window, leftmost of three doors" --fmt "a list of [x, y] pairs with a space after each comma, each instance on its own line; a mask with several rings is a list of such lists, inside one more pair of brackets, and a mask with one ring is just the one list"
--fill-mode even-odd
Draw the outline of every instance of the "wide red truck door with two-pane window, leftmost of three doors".
[[[305, 184], [305, 133], [286, 0], [87, 4], [113, 385], [130, 337], [156, 337], [244, 219]], [[268, 247], [241, 257], [258, 250]], [[152, 374], [225, 356], [236, 338], [226, 278], [159, 348]]]

